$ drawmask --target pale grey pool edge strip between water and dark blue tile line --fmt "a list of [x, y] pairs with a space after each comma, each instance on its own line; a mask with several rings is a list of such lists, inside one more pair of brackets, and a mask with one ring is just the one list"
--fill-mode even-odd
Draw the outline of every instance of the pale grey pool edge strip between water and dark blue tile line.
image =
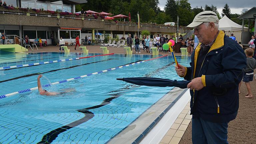
[[131, 144], [136, 139], [142, 139], [145, 137], [145, 135], [151, 130], [155, 123], [160, 120], [159, 116], [163, 115], [163, 111], [169, 107], [169, 105], [178, 97], [182, 91], [183, 89], [173, 88], [159, 101], [147, 109], [143, 114], [141, 114], [136, 119], [136, 121], [132, 122], [127, 128], [112, 138], [108, 144]]

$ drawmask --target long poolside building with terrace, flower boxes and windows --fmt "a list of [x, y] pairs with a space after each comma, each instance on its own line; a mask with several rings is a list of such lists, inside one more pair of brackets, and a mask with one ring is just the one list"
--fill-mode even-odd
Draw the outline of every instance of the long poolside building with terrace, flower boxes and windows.
[[[93, 40], [104, 39], [103, 35], [97, 37], [95, 33], [109, 34], [111, 38], [126, 38], [128, 34], [132, 37], [138, 35], [138, 26], [134, 22], [120, 22], [112, 20], [104, 20], [99, 16], [88, 15], [62, 15], [60, 12], [75, 12], [75, 5], [86, 3], [86, 0], [8, 0], [7, 5], [13, 4], [16, 9], [8, 9], [0, 7], [0, 32], [9, 35], [9, 39], [13, 39], [13, 35], [24, 38], [25, 35], [31, 41], [35, 38], [42, 38], [51, 44], [51, 34], [54, 37], [54, 43], [62, 37], [66, 42], [74, 42], [77, 35], [81, 39], [87, 35]], [[22, 9], [24, 8], [24, 9]], [[26, 9], [28, 8], [28, 9]], [[30, 9], [31, 8], [31, 9]], [[41, 9], [40, 12], [35, 9]], [[46, 10], [57, 11], [51, 13]], [[151, 32], [151, 38], [156, 34], [175, 35], [176, 27], [141, 24], [139, 35], [142, 30]], [[184, 33], [185, 28], [180, 28], [179, 33]]]

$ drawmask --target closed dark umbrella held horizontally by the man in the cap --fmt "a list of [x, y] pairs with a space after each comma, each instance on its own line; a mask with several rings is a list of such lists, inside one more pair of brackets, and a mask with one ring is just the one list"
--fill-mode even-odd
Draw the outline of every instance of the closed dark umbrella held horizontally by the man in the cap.
[[136, 84], [136, 85], [145, 85], [145, 86], [157, 86], [157, 87], [179, 87], [182, 89], [187, 88], [188, 83], [190, 81], [177, 81], [177, 80], [169, 80], [169, 79], [161, 79], [161, 78], [150, 78], [150, 77], [137, 77], [137, 78], [117, 78], [117, 80], [122, 80], [128, 83]]

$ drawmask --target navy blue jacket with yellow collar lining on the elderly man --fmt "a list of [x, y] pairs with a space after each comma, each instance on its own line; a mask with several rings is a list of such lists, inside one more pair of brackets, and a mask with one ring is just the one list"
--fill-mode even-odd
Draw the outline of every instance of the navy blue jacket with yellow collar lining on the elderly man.
[[[191, 67], [186, 67], [184, 79], [195, 78], [200, 44], [191, 55]], [[211, 122], [229, 122], [236, 118], [239, 107], [238, 84], [246, 68], [243, 49], [220, 31], [207, 53], [197, 77], [202, 78], [204, 88], [190, 90], [191, 114]]]

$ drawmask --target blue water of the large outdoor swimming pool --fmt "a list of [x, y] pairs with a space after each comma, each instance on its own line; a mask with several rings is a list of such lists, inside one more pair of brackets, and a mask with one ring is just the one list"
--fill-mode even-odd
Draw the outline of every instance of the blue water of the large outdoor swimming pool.
[[[99, 55], [99, 54], [89, 54]], [[31, 57], [30, 57], [31, 56]], [[6, 57], [1, 67], [83, 57], [80, 53], [36, 53]], [[149, 55], [114, 54], [0, 71], [0, 95], [151, 59]], [[30, 61], [31, 60], [31, 61]], [[182, 65], [189, 59], [177, 57]], [[122, 77], [179, 79], [171, 56], [99, 73], [47, 87], [48, 91], [75, 88], [60, 96], [41, 96], [38, 90], [0, 99], [1, 143], [102, 144], [119, 133], [172, 87], [147, 87], [117, 81]], [[149, 122], [150, 123], [150, 122]]]

